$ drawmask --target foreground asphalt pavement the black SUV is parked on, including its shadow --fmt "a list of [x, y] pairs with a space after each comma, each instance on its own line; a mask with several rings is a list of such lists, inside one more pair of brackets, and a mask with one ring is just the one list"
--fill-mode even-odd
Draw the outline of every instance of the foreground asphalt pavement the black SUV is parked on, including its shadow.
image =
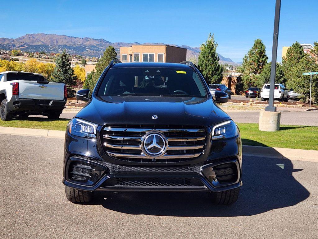
[[244, 157], [232, 206], [206, 193], [66, 200], [63, 140], [0, 134], [0, 238], [318, 238], [318, 163]]

